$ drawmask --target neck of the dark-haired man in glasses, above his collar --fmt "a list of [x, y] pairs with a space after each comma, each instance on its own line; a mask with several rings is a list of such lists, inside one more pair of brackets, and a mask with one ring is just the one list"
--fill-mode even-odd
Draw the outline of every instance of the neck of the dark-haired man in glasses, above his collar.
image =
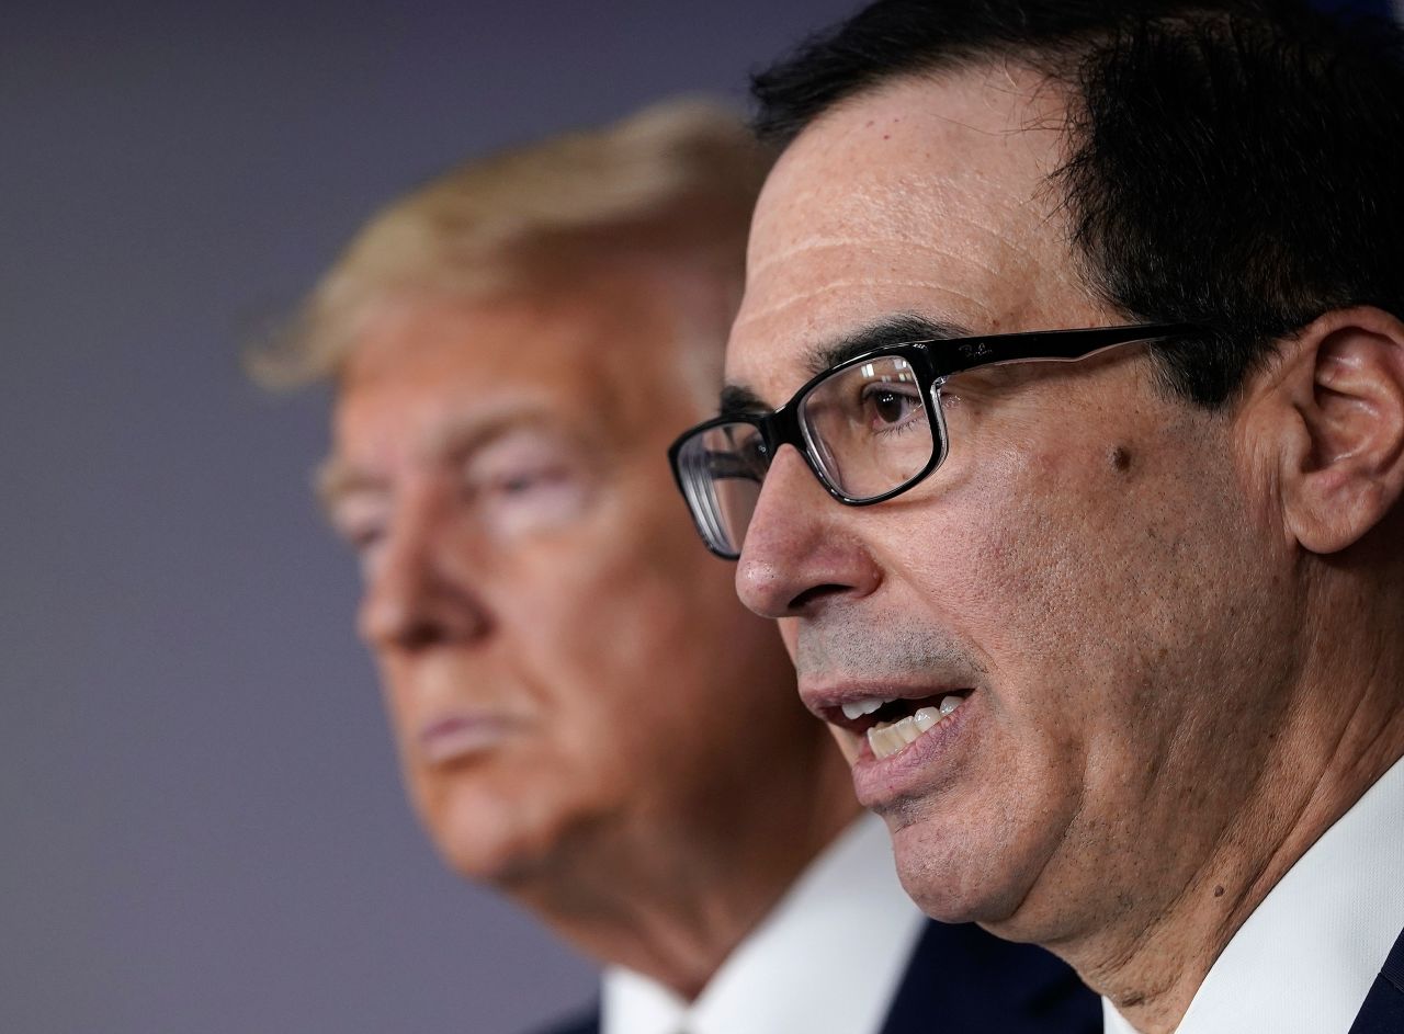
[[[1379, 596], [1375, 598], [1376, 602]], [[1387, 619], [1387, 620], [1382, 620]], [[1168, 904], [1059, 950], [1143, 1034], [1171, 1034], [1219, 954], [1296, 861], [1404, 756], [1404, 613], [1344, 606], [1314, 650], [1243, 807]], [[1339, 622], [1377, 636], [1339, 634]]]

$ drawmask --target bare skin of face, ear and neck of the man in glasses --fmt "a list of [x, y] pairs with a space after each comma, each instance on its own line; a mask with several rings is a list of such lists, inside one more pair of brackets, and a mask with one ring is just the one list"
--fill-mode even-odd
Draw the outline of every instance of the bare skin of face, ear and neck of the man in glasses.
[[[779, 405], [816, 352], [897, 316], [1126, 323], [1064, 243], [1060, 116], [1011, 67], [821, 115], [761, 196], [727, 383]], [[1139, 347], [963, 375], [945, 464], [870, 508], [782, 449], [737, 568], [821, 717], [973, 690], [882, 763], [837, 721], [859, 800], [929, 915], [1054, 950], [1146, 1031], [1174, 1028], [1266, 889], [1404, 752], [1377, 528], [1404, 405], [1359, 372], [1325, 387], [1332, 340], [1400, 382], [1404, 335], [1376, 310], [1328, 324], [1221, 412], [1167, 397]]]

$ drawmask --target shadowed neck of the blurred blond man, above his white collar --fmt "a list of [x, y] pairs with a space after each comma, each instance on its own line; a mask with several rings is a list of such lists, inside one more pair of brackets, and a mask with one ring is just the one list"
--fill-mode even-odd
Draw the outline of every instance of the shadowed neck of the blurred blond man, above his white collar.
[[562, 863], [505, 889], [583, 954], [691, 1002], [856, 818], [847, 766], [831, 744], [820, 748], [817, 765], [796, 766], [793, 780], [753, 787], [744, 812], [723, 810], [687, 831], [653, 817], [587, 835]]

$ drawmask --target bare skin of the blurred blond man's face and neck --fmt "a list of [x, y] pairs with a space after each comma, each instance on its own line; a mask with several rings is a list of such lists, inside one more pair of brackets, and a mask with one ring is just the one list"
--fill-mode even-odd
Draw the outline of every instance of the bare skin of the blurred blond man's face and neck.
[[692, 995], [856, 805], [663, 460], [720, 362], [687, 276], [383, 306], [324, 490], [444, 859]]

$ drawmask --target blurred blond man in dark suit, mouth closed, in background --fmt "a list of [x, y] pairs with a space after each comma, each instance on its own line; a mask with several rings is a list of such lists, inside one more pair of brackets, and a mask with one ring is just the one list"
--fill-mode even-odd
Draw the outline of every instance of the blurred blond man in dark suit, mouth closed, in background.
[[607, 967], [571, 1031], [1095, 1030], [1056, 958], [907, 901], [677, 505], [661, 455], [710, 405], [765, 168], [661, 105], [416, 191], [312, 297], [281, 358], [336, 382], [320, 488], [409, 794]]

